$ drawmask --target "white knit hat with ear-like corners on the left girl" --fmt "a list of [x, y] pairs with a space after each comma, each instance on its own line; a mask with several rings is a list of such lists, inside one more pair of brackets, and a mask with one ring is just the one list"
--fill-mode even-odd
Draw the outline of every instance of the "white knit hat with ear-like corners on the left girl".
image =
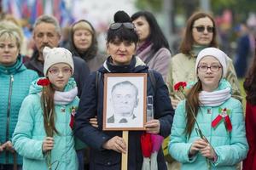
[[66, 63], [70, 65], [73, 72], [73, 57], [70, 51], [66, 48], [49, 48], [45, 47], [43, 50], [44, 55], [44, 76], [51, 65], [55, 65], [57, 63]]

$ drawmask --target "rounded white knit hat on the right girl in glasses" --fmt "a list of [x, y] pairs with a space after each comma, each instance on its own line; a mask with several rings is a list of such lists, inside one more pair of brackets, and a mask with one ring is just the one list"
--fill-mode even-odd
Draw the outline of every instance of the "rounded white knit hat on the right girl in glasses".
[[204, 48], [201, 50], [201, 52], [197, 55], [196, 61], [195, 61], [195, 74], [197, 74], [197, 67], [199, 64], [199, 61], [206, 57], [206, 56], [212, 56], [216, 59], [218, 59], [220, 65], [222, 65], [223, 69], [223, 77], [225, 77], [227, 73], [227, 59], [228, 56], [223, 51], [221, 51], [218, 48]]

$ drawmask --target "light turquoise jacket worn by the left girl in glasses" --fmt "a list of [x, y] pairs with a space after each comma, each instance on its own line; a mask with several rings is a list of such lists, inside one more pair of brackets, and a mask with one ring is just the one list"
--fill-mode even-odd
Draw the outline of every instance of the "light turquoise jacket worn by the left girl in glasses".
[[[73, 78], [67, 82], [65, 91], [76, 86]], [[23, 156], [23, 169], [47, 169], [46, 157], [42, 144], [46, 137], [44, 131], [43, 110], [40, 103], [42, 87], [37, 81], [32, 82], [30, 94], [24, 99], [20, 115], [13, 136], [15, 150]], [[78, 107], [79, 98], [76, 97], [67, 105], [55, 105], [55, 127], [59, 134], [54, 135], [54, 148], [51, 150], [52, 169], [78, 169], [78, 160], [74, 149], [73, 129], [69, 126], [71, 108]], [[56, 168], [57, 167], [57, 168]]]

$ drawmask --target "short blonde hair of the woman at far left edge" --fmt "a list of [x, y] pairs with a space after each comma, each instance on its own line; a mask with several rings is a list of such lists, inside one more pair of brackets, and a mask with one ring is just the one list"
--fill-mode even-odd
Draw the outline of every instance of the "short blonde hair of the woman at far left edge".
[[18, 32], [13, 30], [0, 29], [0, 41], [4, 41], [7, 39], [10, 39], [11, 41], [15, 40], [15, 43], [20, 50], [20, 35], [18, 34]]

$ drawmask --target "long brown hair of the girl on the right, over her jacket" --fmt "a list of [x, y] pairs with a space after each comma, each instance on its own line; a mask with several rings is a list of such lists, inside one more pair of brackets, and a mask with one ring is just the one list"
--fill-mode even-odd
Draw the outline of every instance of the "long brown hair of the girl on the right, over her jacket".
[[[195, 83], [195, 86], [193, 86], [189, 93], [187, 94], [187, 100], [186, 100], [186, 112], [187, 112], [187, 126], [185, 128], [184, 133], [190, 137], [193, 127], [195, 126], [195, 117], [198, 114], [200, 101], [199, 101], [199, 93], [201, 92], [201, 81], [198, 80], [198, 82]], [[193, 116], [193, 113], [195, 114], [195, 117]]]

